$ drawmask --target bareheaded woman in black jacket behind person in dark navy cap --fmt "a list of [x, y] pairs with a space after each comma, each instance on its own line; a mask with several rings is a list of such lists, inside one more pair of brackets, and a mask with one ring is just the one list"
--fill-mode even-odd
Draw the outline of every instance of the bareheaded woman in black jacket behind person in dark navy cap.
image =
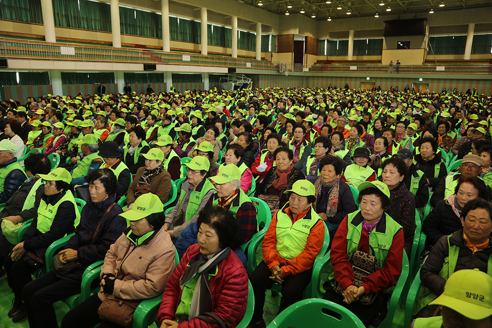
[[429, 187], [435, 188], [441, 182], [441, 179], [448, 175], [446, 165], [441, 159], [441, 153], [436, 153], [437, 142], [430, 137], [422, 138], [419, 149], [420, 153], [414, 156], [415, 166], [424, 172]]

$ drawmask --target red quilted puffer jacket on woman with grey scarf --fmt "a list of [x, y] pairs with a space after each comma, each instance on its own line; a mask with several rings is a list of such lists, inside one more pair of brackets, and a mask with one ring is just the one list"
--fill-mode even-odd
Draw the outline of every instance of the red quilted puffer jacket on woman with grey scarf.
[[[180, 264], [174, 270], [171, 278], [169, 278], [157, 315], [159, 325], [162, 324], [164, 319], [174, 319], [176, 308], [181, 299], [180, 279], [186, 268], [188, 268], [187, 264], [198, 252], [198, 244], [189, 246]], [[247, 280], [246, 270], [233, 251], [231, 251], [225, 260], [219, 263], [217, 275], [212, 276], [209, 280], [214, 306], [213, 313], [228, 323], [231, 328], [238, 325], [246, 312]], [[212, 325], [204, 320], [195, 318], [180, 323], [178, 327], [216, 328], [217, 325]]]

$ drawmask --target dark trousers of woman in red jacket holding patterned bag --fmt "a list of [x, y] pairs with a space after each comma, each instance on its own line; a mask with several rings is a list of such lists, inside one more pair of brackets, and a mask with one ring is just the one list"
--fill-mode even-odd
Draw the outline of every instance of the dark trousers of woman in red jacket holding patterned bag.
[[381, 293], [378, 294], [378, 297], [374, 301], [374, 303], [369, 305], [364, 305], [357, 302], [347, 304], [343, 301], [343, 296], [337, 294], [332, 290], [326, 291], [325, 295], [323, 295], [323, 298], [331, 300], [332, 302], [337, 303], [338, 305], [341, 305], [350, 310], [350, 312], [352, 312], [357, 318], [359, 318], [366, 327], [369, 327], [369, 325], [381, 314], [387, 312], [387, 298], [381, 296]]

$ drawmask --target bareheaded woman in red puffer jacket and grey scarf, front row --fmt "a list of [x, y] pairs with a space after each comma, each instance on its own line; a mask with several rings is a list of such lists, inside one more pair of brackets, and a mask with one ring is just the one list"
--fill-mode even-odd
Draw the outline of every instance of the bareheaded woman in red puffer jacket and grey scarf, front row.
[[186, 250], [171, 275], [157, 321], [161, 328], [177, 328], [178, 322], [183, 327], [209, 328], [217, 326], [209, 320], [218, 317], [228, 327], [236, 327], [246, 312], [248, 298], [246, 270], [231, 251], [239, 224], [232, 212], [215, 207], [200, 212], [197, 226], [198, 243]]

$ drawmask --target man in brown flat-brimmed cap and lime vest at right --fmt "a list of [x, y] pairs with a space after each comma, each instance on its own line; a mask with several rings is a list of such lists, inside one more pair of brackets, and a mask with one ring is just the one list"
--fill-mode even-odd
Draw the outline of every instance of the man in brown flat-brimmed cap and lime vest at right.
[[437, 202], [443, 199], [448, 199], [449, 196], [455, 194], [458, 180], [463, 177], [479, 177], [482, 167], [482, 158], [477, 155], [465, 155], [461, 161], [460, 171], [450, 173], [445, 179], [437, 185], [431, 197], [431, 206], [435, 207]]

